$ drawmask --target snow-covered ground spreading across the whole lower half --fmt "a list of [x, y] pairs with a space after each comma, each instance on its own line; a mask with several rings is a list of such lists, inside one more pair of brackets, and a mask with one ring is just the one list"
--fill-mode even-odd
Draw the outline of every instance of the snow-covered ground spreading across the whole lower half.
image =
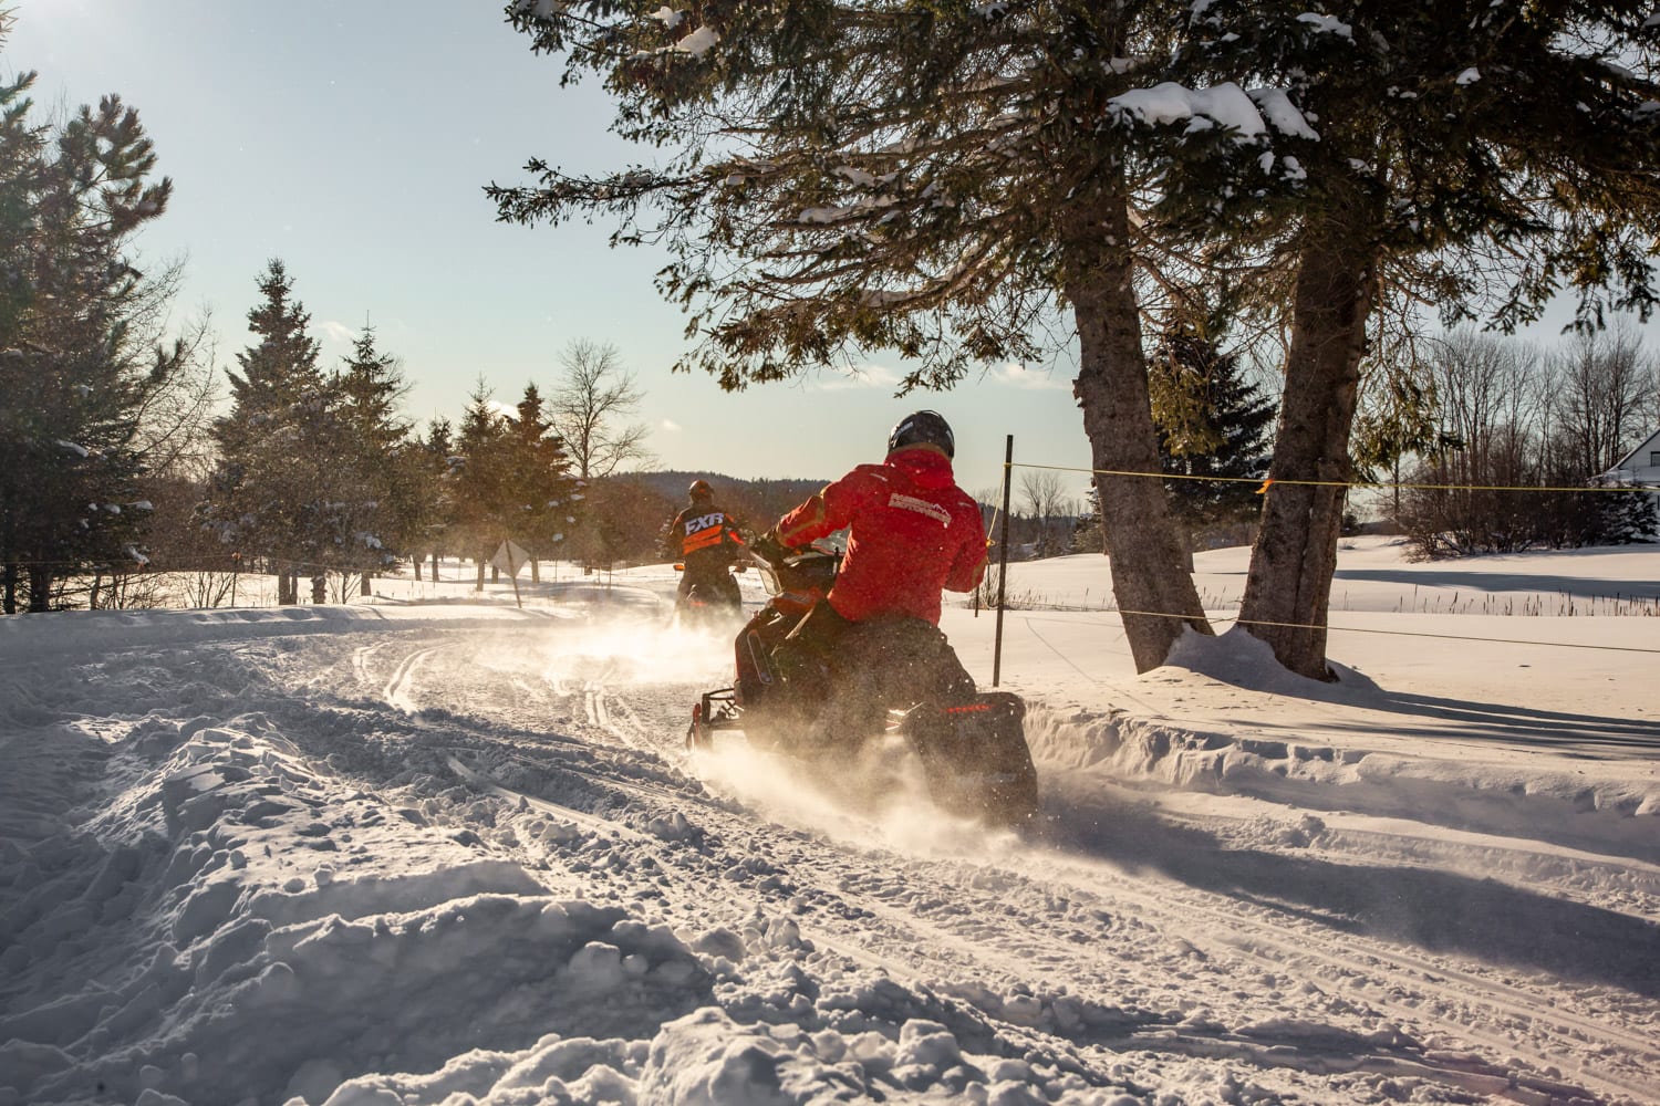
[[0, 1104], [1660, 1101], [1660, 547], [1346, 544], [1338, 685], [1016, 565], [1021, 837], [689, 754], [672, 587], [0, 618]]

